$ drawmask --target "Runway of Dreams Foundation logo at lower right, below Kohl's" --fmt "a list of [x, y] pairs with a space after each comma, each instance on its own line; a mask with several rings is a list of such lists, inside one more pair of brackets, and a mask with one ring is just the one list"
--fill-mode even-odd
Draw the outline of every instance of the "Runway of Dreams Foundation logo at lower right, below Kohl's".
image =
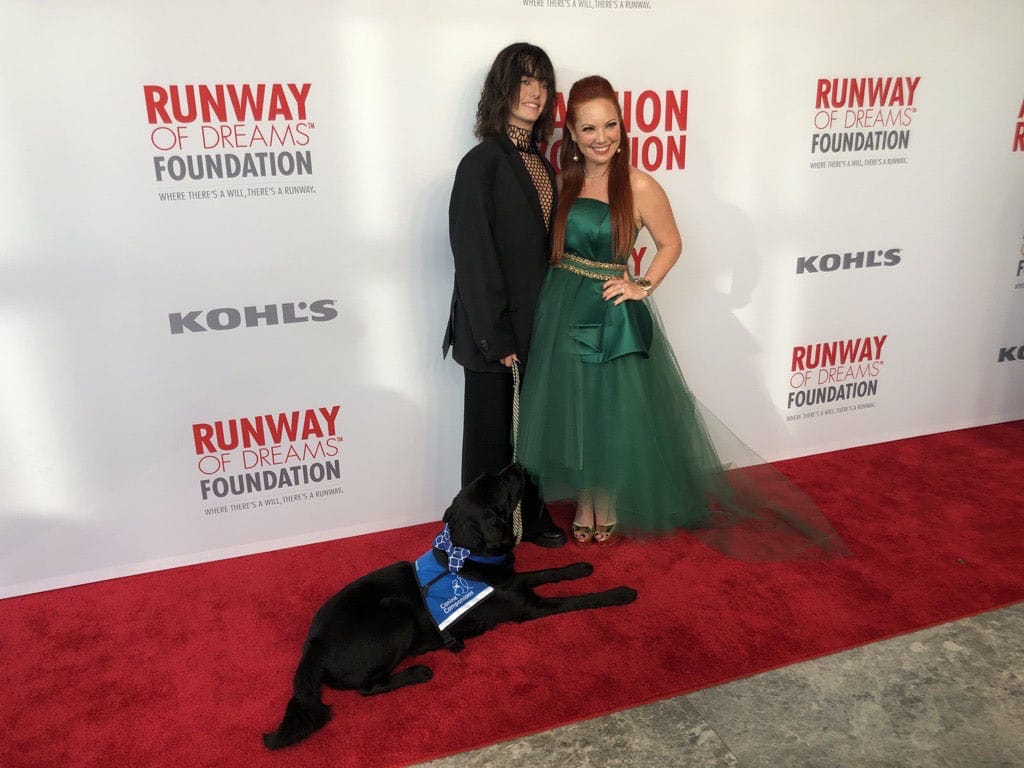
[[873, 408], [867, 398], [879, 392], [882, 350], [889, 338], [863, 336], [793, 348], [786, 409], [819, 406], [787, 416], [786, 421]]

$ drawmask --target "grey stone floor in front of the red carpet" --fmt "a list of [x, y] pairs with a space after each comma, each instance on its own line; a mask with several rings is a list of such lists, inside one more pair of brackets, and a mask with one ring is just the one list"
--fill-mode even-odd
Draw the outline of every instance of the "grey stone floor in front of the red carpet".
[[1024, 768], [1024, 603], [421, 768]]

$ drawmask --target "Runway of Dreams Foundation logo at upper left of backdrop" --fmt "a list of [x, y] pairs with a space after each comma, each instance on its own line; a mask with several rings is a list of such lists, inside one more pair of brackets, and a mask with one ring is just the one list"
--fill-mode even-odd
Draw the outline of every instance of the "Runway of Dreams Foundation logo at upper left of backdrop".
[[[309, 83], [143, 85], [153, 172], [161, 200], [211, 200], [314, 193]], [[266, 183], [267, 181], [270, 183]], [[292, 183], [282, 183], [284, 181]], [[179, 182], [228, 188], [172, 190]], [[247, 183], [238, 183], [247, 182]]]

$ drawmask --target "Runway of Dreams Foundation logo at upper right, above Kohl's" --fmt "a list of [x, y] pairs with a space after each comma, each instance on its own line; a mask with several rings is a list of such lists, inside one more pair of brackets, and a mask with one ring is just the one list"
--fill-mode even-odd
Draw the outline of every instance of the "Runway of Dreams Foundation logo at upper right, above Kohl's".
[[819, 79], [811, 168], [906, 163], [919, 85], [920, 76]]

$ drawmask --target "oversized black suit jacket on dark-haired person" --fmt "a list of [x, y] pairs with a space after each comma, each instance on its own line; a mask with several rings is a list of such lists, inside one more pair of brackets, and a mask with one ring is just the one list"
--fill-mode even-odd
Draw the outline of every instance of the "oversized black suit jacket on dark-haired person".
[[[554, 170], [542, 160], [554, 190]], [[529, 172], [507, 136], [484, 139], [459, 163], [449, 237], [455, 290], [442, 354], [452, 348], [457, 362], [478, 372], [507, 371], [500, 360], [513, 352], [525, 362], [551, 242]]]

